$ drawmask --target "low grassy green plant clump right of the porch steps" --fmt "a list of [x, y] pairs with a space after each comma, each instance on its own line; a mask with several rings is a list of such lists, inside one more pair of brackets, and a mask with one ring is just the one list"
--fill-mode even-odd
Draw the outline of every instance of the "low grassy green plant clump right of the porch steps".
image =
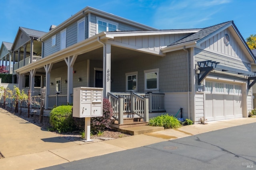
[[149, 120], [150, 126], [162, 126], [164, 129], [176, 129], [181, 127], [180, 121], [172, 115], [160, 115]]

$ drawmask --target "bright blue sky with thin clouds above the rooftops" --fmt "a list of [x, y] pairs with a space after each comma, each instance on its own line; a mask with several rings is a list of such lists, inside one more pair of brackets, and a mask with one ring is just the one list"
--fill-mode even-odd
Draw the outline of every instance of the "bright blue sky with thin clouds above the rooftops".
[[256, 34], [255, 0], [1, 0], [0, 43], [13, 43], [19, 26], [47, 32], [86, 6], [157, 29], [233, 20], [244, 39]]

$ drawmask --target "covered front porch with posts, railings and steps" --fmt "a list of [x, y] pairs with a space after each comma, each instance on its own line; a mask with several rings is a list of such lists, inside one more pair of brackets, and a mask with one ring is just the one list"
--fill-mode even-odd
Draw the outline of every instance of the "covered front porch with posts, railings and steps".
[[[51, 109], [72, 104], [73, 88], [103, 87], [103, 96], [110, 100], [113, 118], [119, 124], [124, 117], [148, 121], [148, 113], [165, 111], [164, 93], [160, 93], [158, 73], [155, 73], [159, 68], [150, 64], [164, 56], [160, 49], [149, 50], [149, 44], [138, 48], [106, 38], [105, 34], [100, 33], [18, 68], [19, 88], [29, 84], [32, 96], [37, 96], [35, 76], [41, 76], [41, 88], [46, 88], [44, 107]], [[144, 79], [148, 70], [153, 70], [154, 75]], [[30, 75], [29, 83], [25, 83], [28, 81], [25, 75]], [[145, 81], [150, 81], [150, 86], [145, 86]]]

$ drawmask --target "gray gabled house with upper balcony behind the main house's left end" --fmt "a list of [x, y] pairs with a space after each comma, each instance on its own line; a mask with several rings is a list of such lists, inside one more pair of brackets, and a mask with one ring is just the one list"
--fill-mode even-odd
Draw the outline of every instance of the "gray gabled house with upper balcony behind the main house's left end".
[[37, 41], [37, 39], [45, 33], [46, 32], [43, 31], [19, 27], [11, 47], [14, 70], [13, 83], [17, 82], [14, 79], [19, 77], [19, 88], [30, 88], [33, 95], [35, 91], [34, 87], [39, 88], [38, 92], [35, 93], [38, 94], [40, 88], [43, 86], [42, 73], [30, 71], [19, 75], [16, 74], [16, 70], [30, 63], [33, 64], [35, 61], [42, 58], [42, 42]]

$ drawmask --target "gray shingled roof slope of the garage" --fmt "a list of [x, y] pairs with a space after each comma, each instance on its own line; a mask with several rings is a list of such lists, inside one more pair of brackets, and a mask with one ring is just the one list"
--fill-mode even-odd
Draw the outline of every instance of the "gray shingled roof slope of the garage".
[[217, 24], [217, 25], [213, 25], [213, 26], [210, 26], [210, 27], [203, 28], [201, 31], [198, 31], [197, 33], [189, 35], [188, 37], [185, 37], [185, 38], [183, 38], [179, 41], [176, 41], [175, 43], [172, 43], [168, 46], [182, 44], [182, 43], [188, 43], [190, 41], [199, 41], [200, 39], [214, 33], [218, 29], [224, 27], [225, 25], [227, 25], [231, 22], [233, 22], [233, 21], [227, 21], [227, 22], [224, 22], [224, 23], [220, 23], [220, 24]]

